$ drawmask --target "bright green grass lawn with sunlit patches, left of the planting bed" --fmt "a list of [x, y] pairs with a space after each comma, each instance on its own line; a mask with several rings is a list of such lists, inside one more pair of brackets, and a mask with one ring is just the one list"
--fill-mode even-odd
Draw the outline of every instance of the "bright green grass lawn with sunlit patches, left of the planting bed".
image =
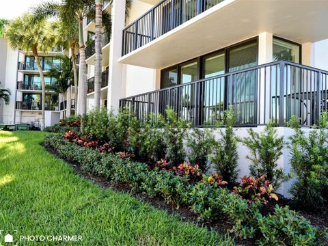
[[[131, 195], [101, 189], [46, 152], [46, 133], [0, 131], [0, 243], [3, 234], [81, 235], [81, 242], [18, 245], [233, 245]], [[14, 230], [18, 230], [17, 234]], [[16, 239], [17, 240], [17, 239]]]

